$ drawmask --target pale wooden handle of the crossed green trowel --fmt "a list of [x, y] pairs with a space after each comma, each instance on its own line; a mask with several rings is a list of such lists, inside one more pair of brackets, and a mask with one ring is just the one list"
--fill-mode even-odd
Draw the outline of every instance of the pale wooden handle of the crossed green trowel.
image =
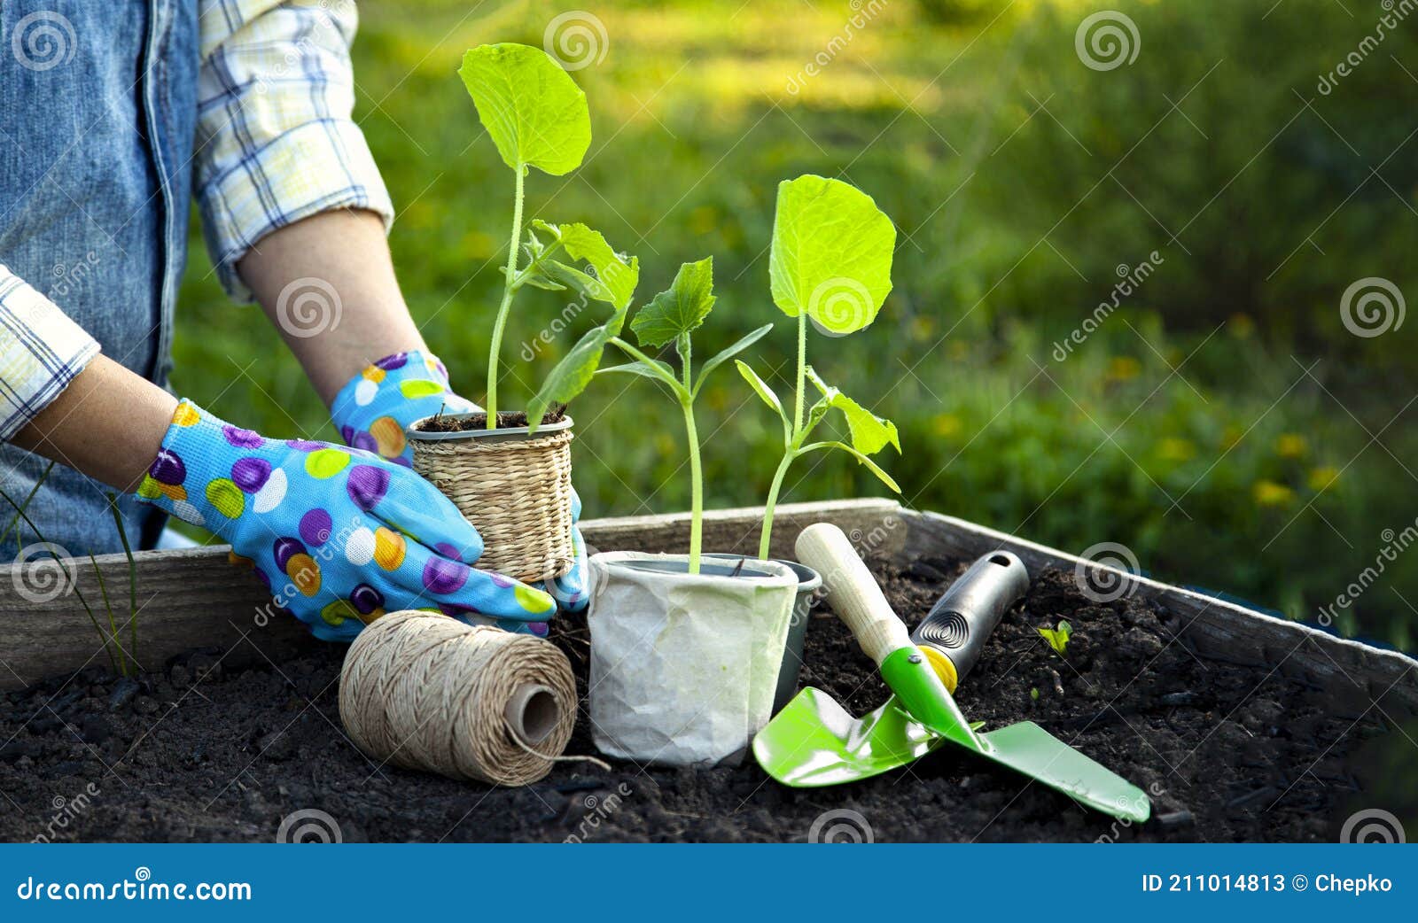
[[808, 526], [798, 536], [797, 556], [822, 574], [828, 601], [866, 656], [879, 665], [892, 651], [910, 647], [905, 622], [896, 618], [872, 571], [841, 529], [828, 522]]

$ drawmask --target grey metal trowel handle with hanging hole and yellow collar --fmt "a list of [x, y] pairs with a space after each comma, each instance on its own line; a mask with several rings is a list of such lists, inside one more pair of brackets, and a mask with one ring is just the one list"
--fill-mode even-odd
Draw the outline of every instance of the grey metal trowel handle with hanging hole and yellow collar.
[[950, 584], [910, 639], [926, 652], [946, 689], [966, 678], [984, 642], [1029, 588], [1024, 561], [1008, 552], [986, 554]]

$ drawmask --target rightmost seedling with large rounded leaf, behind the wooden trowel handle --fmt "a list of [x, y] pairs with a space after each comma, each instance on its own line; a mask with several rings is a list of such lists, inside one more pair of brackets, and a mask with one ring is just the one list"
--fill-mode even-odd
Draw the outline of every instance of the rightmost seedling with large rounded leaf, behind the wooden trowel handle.
[[[773, 474], [764, 503], [759, 557], [769, 556], [773, 537], [773, 509], [783, 479], [794, 461], [815, 451], [838, 449], [852, 455], [896, 493], [900, 488], [869, 457], [888, 445], [900, 452], [896, 424], [832, 387], [807, 364], [808, 320], [824, 335], [847, 336], [876, 319], [891, 292], [891, 261], [896, 228], [871, 196], [841, 180], [800, 176], [778, 184], [773, 218], [769, 276], [773, 303], [797, 318], [797, 386], [793, 414], [773, 388], [747, 363], [737, 362], [739, 374], [783, 423], [783, 459]], [[818, 393], [808, 408], [807, 386]], [[831, 410], [847, 418], [849, 442], [808, 441]]]

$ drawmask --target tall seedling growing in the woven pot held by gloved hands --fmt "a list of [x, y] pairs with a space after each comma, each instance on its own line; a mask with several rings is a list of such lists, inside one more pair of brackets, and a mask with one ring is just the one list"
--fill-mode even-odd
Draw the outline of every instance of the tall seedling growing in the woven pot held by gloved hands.
[[[527, 407], [527, 427], [535, 432], [549, 405], [570, 401], [590, 383], [605, 343], [620, 333], [625, 320], [640, 282], [640, 262], [615, 252], [600, 231], [584, 224], [532, 221], [527, 227], [523, 223], [527, 170], [536, 167], [549, 176], [564, 176], [581, 166], [591, 143], [586, 94], [576, 81], [540, 48], [518, 44], [471, 48], [462, 57], [458, 75], [472, 96], [478, 119], [515, 177], [512, 235], [488, 354], [488, 428], [498, 425], [502, 336], [519, 291], [525, 286], [574, 289], [614, 309], [610, 320], [583, 336], [547, 374]], [[556, 258], [563, 255], [569, 262]]]

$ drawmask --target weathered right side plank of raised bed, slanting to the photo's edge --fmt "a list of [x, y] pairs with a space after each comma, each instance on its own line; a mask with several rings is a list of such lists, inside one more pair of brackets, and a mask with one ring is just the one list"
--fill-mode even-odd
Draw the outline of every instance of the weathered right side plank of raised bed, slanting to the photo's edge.
[[953, 516], [903, 512], [902, 519], [909, 532], [902, 556], [926, 547], [961, 557], [1003, 549], [1018, 554], [1029, 573], [1044, 567], [1112, 571], [1133, 581], [1130, 593], [1177, 615], [1181, 642], [1200, 656], [1273, 666], [1282, 675], [1303, 678], [1336, 696], [1357, 700], [1360, 712], [1377, 703], [1391, 720], [1418, 715], [1418, 661], [1397, 651], [1347, 641], [1215, 597], [1126, 574]]

